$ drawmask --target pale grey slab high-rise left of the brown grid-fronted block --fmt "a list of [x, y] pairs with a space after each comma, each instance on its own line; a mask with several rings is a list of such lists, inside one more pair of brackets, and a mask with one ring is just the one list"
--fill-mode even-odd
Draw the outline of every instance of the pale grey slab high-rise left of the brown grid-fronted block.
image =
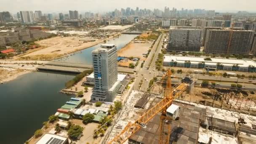
[[167, 51], [200, 51], [202, 29], [170, 27]]

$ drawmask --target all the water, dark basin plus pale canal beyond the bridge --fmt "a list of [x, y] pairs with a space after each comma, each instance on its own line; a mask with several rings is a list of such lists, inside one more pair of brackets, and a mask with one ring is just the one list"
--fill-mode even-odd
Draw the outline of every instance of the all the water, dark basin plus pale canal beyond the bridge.
[[[121, 35], [107, 43], [114, 43], [120, 49], [136, 36]], [[61, 61], [91, 64], [91, 51], [99, 46], [84, 49]], [[64, 73], [31, 72], [0, 84], [0, 144], [23, 144], [42, 128], [42, 123], [71, 98], [59, 91], [73, 77], [75, 75]]]

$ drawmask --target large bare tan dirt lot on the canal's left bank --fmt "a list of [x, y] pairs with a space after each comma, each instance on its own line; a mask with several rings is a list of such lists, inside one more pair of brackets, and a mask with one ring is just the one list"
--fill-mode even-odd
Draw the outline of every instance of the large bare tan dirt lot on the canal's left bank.
[[30, 50], [24, 55], [20, 55], [19, 57], [16, 57], [16, 59], [49, 60], [49, 59], [54, 59], [54, 58], [63, 56], [68, 53], [82, 50], [84, 48], [88, 48], [103, 42], [103, 40], [98, 40], [98, 39], [96, 39], [96, 41], [94, 42], [88, 42], [88, 43], [83, 43], [83, 41], [79, 41], [79, 40], [86, 40], [86, 39], [87, 39], [86, 37], [83, 37], [83, 38], [53, 37], [45, 40], [40, 40], [36, 42], [39, 45], [41, 45], [40, 48]]

